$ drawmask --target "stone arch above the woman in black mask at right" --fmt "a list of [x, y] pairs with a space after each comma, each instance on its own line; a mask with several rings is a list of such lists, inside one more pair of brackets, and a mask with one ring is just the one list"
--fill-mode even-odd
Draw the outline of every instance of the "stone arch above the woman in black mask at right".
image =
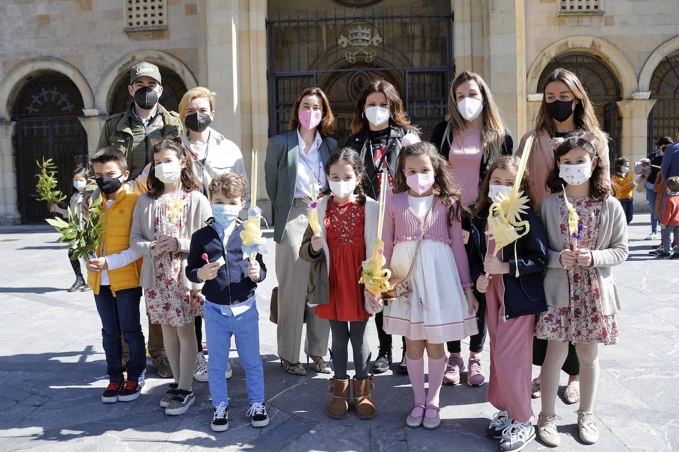
[[540, 55], [533, 61], [528, 70], [528, 94], [541, 94], [537, 91], [538, 80], [545, 66], [555, 56], [572, 52], [580, 52], [602, 58], [618, 78], [623, 99], [631, 99], [632, 93], [638, 91], [634, 67], [632, 67], [627, 57], [614, 45], [597, 37], [573, 36], [553, 43], [543, 52], [540, 52]]

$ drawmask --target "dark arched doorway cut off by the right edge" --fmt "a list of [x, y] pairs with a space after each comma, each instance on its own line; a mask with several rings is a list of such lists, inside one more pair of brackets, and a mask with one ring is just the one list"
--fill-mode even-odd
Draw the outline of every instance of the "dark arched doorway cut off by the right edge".
[[657, 99], [648, 115], [648, 150], [662, 136], [676, 140], [679, 131], [679, 49], [661, 60], [650, 78], [650, 98]]

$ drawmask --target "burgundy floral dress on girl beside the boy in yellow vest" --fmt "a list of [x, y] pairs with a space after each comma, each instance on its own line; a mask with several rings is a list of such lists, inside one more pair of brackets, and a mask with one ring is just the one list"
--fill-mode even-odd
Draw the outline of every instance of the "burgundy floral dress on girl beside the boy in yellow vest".
[[[181, 192], [177, 199], [179, 215], [170, 215], [175, 204], [175, 195], [162, 195], [154, 205], [153, 240], [164, 235], [184, 237], [191, 200], [191, 193]], [[151, 246], [151, 258], [155, 262], [155, 287], [145, 289], [146, 314], [151, 323], [181, 327], [191, 323], [194, 316], [203, 313], [203, 297], [200, 290], [184, 288], [184, 269], [181, 266], [181, 253], [156, 253]]]

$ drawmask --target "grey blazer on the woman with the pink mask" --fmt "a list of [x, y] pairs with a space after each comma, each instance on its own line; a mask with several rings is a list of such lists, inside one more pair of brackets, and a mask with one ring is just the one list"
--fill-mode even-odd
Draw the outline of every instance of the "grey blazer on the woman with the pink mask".
[[[323, 159], [323, 165], [335, 150], [337, 150], [337, 141], [323, 137], [323, 142], [320, 144], [320, 157]], [[274, 241], [278, 243], [282, 243], [285, 224], [288, 222], [293, 199], [295, 199], [298, 161], [297, 130], [281, 133], [269, 140], [264, 161], [264, 179], [266, 192], [274, 210]]]

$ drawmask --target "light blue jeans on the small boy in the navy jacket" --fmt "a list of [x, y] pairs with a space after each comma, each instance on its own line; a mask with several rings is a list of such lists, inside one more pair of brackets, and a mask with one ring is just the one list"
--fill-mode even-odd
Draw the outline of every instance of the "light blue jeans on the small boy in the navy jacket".
[[[251, 306], [245, 312], [234, 315], [232, 308]], [[236, 336], [236, 350], [245, 371], [248, 399], [251, 404], [264, 401], [264, 369], [259, 357], [259, 312], [255, 297], [246, 302], [227, 306], [203, 304], [205, 337], [208, 343], [208, 384], [213, 407], [220, 403], [229, 405], [224, 373], [229, 365], [231, 336]]]

